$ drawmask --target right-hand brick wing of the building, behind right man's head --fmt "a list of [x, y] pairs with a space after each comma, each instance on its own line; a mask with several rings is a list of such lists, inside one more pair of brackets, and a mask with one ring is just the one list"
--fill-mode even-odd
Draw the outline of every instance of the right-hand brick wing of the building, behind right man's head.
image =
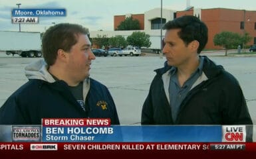
[[214, 46], [213, 37], [222, 31], [237, 32], [244, 34], [248, 32], [252, 37], [247, 45], [256, 44], [256, 11], [237, 9], [190, 9], [189, 11], [177, 11], [177, 17], [183, 15], [195, 15], [199, 17], [208, 27], [208, 43], [205, 48], [219, 48]]

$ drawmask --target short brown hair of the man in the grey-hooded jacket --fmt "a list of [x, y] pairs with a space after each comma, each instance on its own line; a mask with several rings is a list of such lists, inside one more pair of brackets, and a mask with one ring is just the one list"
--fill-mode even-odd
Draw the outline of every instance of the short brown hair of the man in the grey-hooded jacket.
[[76, 24], [61, 23], [47, 29], [42, 38], [42, 52], [48, 66], [55, 64], [59, 49], [63, 49], [65, 52], [70, 51], [77, 42], [78, 34], [89, 34], [88, 28]]

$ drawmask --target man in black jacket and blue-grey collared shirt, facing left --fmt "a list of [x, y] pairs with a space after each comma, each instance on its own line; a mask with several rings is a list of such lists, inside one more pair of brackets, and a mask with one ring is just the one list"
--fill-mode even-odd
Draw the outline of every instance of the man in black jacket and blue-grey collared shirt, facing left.
[[207, 26], [184, 16], [164, 26], [164, 68], [155, 70], [142, 125], [252, 125], [237, 79], [199, 56]]

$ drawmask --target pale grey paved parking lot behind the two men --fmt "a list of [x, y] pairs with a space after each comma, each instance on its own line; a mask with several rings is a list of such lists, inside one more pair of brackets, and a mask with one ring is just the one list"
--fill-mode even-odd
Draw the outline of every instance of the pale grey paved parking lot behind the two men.
[[[238, 79], [256, 124], [256, 56], [210, 58]], [[25, 66], [38, 59], [7, 56], [0, 52], [0, 107], [13, 91], [27, 82]], [[97, 57], [92, 62], [90, 76], [110, 90], [122, 125], [140, 123], [142, 105], [154, 78], [154, 69], [161, 68], [164, 61], [165, 58], [158, 56], [108, 56]]]

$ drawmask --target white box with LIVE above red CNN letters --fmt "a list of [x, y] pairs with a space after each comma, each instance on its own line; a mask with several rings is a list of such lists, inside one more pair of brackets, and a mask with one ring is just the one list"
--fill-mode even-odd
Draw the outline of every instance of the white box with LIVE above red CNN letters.
[[245, 125], [225, 125], [222, 132], [222, 142], [245, 142]]

